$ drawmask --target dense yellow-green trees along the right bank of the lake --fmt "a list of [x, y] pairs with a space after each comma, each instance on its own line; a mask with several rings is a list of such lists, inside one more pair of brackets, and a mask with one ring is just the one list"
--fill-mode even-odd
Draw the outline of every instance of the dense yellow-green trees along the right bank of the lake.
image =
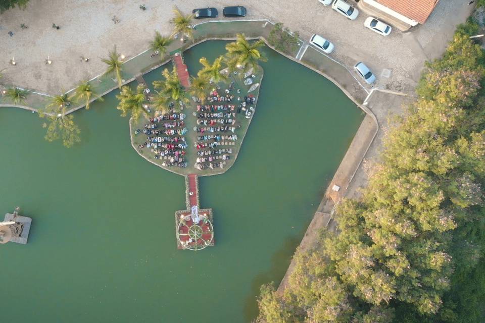
[[458, 32], [427, 65], [362, 198], [339, 205], [338, 234], [297, 252], [282, 295], [262, 288], [260, 320], [374, 323], [398, 313], [397, 322], [479, 321], [483, 305], [462, 308], [483, 302], [467, 280], [485, 285], [484, 63], [483, 50]]

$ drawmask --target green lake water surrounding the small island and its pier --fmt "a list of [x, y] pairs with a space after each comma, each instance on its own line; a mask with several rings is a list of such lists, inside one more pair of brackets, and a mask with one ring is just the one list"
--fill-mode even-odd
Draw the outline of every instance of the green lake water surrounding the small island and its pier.
[[[223, 42], [186, 55], [190, 72]], [[363, 115], [323, 77], [266, 51], [258, 108], [234, 166], [200, 179], [216, 246], [176, 249], [183, 178], [130, 146], [111, 93], [75, 113], [82, 143], [0, 109], [0, 211], [33, 218], [27, 245], [0, 245], [2, 321], [247, 322], [260, 284], [284, 275]], [[199, 66], [196, 66], [196, 69]], [[157, 72], [159, 73], [159, 72]]]

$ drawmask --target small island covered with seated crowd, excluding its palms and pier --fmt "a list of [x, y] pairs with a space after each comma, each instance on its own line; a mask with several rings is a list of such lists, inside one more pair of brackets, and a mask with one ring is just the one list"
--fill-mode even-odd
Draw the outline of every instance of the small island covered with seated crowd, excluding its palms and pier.
[[[181, 78], [179, 71], [186, 70], [182, 54], [175, 53], [172, 62]], [[189, 90], [188, 73], [182, 78], [180, 83]], [[263, 69], [255, 66], [246, 72], [230, 72], [226, 68], [221, 70], [220, 78], [208, 84], [203, 97], [172, 100], [165, 111], [154, 111], [150, 103], [157, 98], [148, 95], [150, 113], [130, 120], [133, 148], [151, 163], [182, 176], [227, 171], [256, 112]]]

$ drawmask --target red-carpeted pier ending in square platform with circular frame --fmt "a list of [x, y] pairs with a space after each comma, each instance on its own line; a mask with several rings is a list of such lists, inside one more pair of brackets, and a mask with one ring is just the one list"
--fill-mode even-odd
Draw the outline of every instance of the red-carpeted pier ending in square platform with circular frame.
[[197, 175], [185, 177], [187, 209], [175, 212], [177, 249], [202, 250], [214, 245], [214, 221], [211, 208], [199, 208], [199, 181]]

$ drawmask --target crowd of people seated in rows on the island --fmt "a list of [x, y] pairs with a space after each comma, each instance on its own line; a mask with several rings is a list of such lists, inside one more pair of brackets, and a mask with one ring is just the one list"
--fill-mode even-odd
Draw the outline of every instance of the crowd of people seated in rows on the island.
[[[241, 90], [236, 90], [231, 82], [225, 90], [213, 88], [204, 102], [193, 97], [196, 109], [191, 113], [197, 118], [197, 125], [193, 127], [197, 135], [193, 143], [197, 151], [196, 169], [224, 169], [226, 162], [233, 158], [233, 151], [237, 151], [232, 147], [238, 140], [235, 131], [241, 127], [237, 116], [242, 114], [249, 119], [256, 102], [252, 94], [241, 97], [239, 93]], [[170, 104], [170, 113], [150, 118], [150, 123], [136, 130], [135, 134], [142, 132], [147, 136], [138, 148], [149, 148], [155, 159], [163, 160], [162, 166], [186, 168], [186, 148], [192, 143], [185, 140], [186, 116], [173, 112], [173, 105]]]

